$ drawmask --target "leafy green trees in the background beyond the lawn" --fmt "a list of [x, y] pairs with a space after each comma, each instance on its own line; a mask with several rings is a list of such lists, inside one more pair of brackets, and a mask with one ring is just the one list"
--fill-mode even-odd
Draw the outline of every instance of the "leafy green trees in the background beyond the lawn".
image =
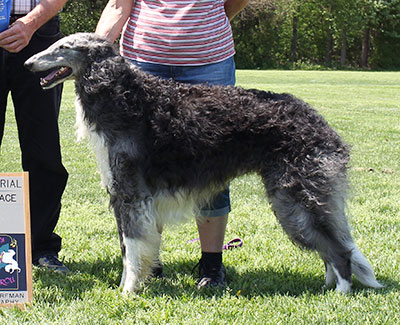
[[[93, 31], [106, 3], [69, 1], [63, 32]], [[250, 0], [232, 29], [241, 69], [400, 68], [400, 0]]]

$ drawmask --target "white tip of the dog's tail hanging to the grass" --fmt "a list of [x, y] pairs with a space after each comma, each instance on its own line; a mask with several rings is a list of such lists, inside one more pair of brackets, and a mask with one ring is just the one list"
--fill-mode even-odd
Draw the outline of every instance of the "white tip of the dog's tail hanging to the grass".
[[354, 276], [367, 287], [371, 288], [383, 288], [374, 275], [374, 270], [369, 264], [365, 256], [360, 252], [357, 246], [352, 244], [352, 252], [350, 257], [351, 271]]

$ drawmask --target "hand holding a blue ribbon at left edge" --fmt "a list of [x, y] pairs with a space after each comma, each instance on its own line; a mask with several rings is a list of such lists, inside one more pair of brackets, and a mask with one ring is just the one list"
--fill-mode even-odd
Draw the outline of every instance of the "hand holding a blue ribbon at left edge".
[[28, 45], [33, 31], [21, 20], [14, 22], [7, 30], [0, 33], [0, 47], [8, 52], [17, 53]]

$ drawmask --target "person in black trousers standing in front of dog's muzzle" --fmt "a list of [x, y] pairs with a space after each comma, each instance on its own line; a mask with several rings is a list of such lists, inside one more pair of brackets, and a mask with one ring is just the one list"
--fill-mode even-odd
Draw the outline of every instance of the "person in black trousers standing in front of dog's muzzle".
[[11, 93], [22, 168], [29, 172], [32, 260], [62, 273], [61, 237], [54, 233], [68, 173], [61, 160], [58, 114], [62, 85], [44, 91], [39, 74], [24, 68], [32, 55], [61, 38], [58, 12], [66, 0], [15, 0], [9, 28], [0, 33], [0, 145]]

